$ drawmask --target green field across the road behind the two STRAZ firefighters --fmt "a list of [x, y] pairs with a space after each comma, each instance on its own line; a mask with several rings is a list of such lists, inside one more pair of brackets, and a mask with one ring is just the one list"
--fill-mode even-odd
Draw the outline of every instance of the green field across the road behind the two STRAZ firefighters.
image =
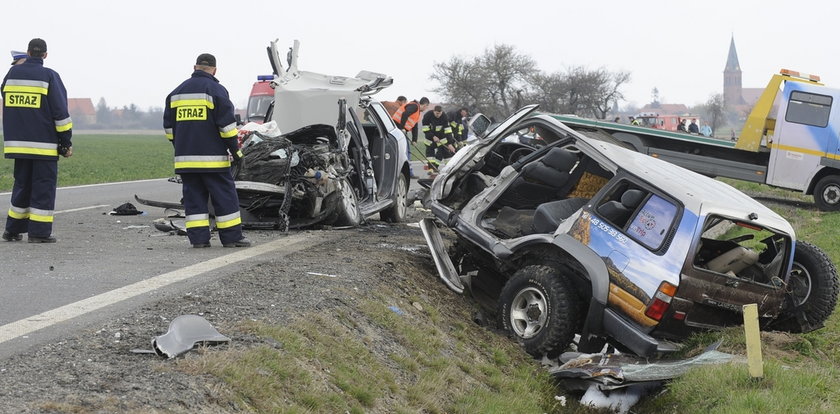
[[[75, 135], [58, 162], [58, 186], [142, 180], [174, 174], [172, 144], [161, 135]], [[0, 191], [14, 183], [14, 160], [0, 162]]]

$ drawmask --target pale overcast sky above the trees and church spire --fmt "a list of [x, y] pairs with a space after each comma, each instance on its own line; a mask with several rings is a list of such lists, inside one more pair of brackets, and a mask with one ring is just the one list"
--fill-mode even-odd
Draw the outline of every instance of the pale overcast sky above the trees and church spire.
[[[734, 35], [744, 87], [763, 87], [780, 68], [840, 85], [840, 3], [814, 1], [56, 1], [4, 2], [2, 49], [47, 41], [46, 66], [71, 98], [108, 106], [163, 106], [202, 52], [238, 106], [270, 74], [265, 47], [301, 41], [299, 67], [394, 78], [379, 99], [428, 96], [435, 62], [471, 58], [495, 44], [531, 56], [546, 72], [570, 66], [629, 71], [627, 102], [694, 105], [722, 92]], [[0, 50], [2, 50], [0, 49]], [[456, 103], [457, 104], [457, 103]]]

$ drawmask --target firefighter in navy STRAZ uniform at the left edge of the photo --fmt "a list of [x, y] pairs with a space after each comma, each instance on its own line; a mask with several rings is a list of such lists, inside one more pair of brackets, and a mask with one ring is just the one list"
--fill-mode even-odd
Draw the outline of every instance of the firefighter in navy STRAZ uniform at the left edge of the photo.
[[3, 78], [3, 131], [6, 158], [15, 160], [15, 184], [3, 240], [55, 243], [52, 236], [58, 156], [73, 155], [73, 122], [67, 90], [54, 70], [44, 67], [47, 42], [32, 39], [28, 57]]

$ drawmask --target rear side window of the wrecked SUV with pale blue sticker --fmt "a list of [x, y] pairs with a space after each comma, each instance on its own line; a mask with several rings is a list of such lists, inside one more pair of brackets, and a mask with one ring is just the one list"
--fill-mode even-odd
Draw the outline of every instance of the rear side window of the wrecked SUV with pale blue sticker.
[[651, 250], [662, 247], [679, 208], [651, 191], [623, 181], [596, 208], [598, 215]]

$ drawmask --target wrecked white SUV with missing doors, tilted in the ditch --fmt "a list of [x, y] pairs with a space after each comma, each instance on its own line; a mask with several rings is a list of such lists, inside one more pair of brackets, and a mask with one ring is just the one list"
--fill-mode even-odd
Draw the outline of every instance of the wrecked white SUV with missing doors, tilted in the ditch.
[[[434, 180], [421, 223], [443, 281], [491, 303], [529, 353], [556, 356], [579, 333], [584, 352], [610, 341], [650, 356], [740, 323], [750, 303], [767, 329], [807, 332], [833, 312], [834, 265], [778, 214], [535, 110], [489, 132], [477, 116], [479, 139]], [[505, 140], [521, 131], [546, 145]]]

